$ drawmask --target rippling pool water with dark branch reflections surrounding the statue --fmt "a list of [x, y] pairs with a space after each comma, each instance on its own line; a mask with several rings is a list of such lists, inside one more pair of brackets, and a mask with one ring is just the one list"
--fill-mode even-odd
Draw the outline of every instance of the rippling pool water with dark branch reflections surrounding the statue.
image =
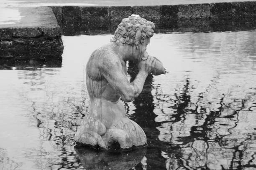
[[125, 104], [148, 147], [74, 148], [89, 107], [84, 67], [110, 37], [63, 37], [62, 67], [33, 60], [1, 67], [11, 70], [0, 70], [0, 170], [256, 169], [255, 30], [154, 35], [148, 54], [169, 74], [148, 77]]

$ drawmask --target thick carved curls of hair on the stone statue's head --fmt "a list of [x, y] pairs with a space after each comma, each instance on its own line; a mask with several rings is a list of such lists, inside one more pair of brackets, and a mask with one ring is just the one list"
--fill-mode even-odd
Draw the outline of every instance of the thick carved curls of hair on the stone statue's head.
[[133, 14], [122, 20], [110, 41], [117, 45], [136, 45], [138, 48], [138, 45], [143, 43], [145, 38], [154, 35], [154, 29], [154, 23]]

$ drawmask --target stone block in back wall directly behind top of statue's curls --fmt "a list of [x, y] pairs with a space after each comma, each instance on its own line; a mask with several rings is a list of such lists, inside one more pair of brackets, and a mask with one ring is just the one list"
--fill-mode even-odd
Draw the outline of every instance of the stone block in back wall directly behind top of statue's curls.
[[156, 29], [160, 25], [160, 7], [159, 6], [133, 6], [133, 14], [140, 15], [153, 22], [156, 25]]

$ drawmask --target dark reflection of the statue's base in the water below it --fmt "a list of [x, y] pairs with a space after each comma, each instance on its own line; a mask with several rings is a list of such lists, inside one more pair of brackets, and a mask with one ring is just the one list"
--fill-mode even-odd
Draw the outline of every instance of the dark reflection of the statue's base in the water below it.
[[141, 162], [146, 147], [113, 153], [87, 147], [75, 147], [76, 153], [86, 170], [128, 170]]

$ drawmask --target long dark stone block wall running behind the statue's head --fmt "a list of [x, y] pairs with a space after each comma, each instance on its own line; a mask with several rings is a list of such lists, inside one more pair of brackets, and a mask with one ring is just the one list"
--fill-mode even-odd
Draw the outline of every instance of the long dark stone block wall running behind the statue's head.
[[256, 28], [256, 1], [211, 4], [52, 7], [64, 35], [113, 33], [123, 18], [138, 14], [156, 32], [208, 32]]

